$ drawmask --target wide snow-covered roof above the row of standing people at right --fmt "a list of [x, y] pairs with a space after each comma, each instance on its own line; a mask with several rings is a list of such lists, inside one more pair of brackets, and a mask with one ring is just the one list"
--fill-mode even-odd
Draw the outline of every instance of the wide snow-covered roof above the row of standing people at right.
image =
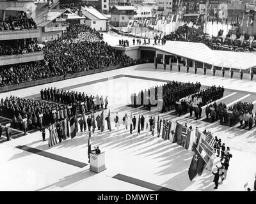
[[254, 53], [211, 50], [203, 43], [166, 41], [165, 46], [152, 45], [150, 47], [157, 48], [162, 52], [225, 68], [248, 69], [256, 66], [256, 54]]

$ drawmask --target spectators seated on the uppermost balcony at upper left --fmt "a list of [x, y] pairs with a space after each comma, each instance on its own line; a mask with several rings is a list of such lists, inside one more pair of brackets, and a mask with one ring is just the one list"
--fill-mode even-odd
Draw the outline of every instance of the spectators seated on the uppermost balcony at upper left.
[[19, 17], [11, 15], [4, 21], [0, 20], [0, 31], [36, 29], [36, 23], [32, 17], [28, 17], [25, 11], [19, 12]]

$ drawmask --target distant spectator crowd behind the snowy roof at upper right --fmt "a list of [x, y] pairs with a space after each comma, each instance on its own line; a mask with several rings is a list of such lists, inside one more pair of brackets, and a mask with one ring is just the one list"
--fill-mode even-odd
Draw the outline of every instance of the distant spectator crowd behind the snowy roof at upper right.
[[[222, 36], [223, 31], [219, 31], [219, 36]], [[241, 35], [237, 34], [237, 38]], [[228, 51], [239, 51], [239, 52], [252, 52], [253, 48], [250, 45], [237, 40], [231, 40], [229, 34], [226, 38], [213, 37], [209, 34], [204, 33], [204, 27], [189, 27], [188, 25], [180, 26], [177, 31], [170, 34], [164, 35], [164, 40], [172, 41], [188, 41], [195, 43], [204, 43], [207, 47], [212, 50], [228, 50]]]

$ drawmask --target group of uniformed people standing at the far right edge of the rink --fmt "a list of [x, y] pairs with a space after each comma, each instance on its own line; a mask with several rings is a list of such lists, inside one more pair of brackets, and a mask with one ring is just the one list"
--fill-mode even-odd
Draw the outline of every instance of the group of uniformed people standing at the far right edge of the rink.
[[253, 117], [253, 104], [239, 101], [233, 106], [227, 108], [225, 103], [213, 103], [205, 108], [206, 117], [211, 116], [211, 122], [220, 120], [221, 124], [228, 124], [234, 126], [240, 122], [241, 128], [250, 130], [253, 123], [256, 126], [256, 116]]

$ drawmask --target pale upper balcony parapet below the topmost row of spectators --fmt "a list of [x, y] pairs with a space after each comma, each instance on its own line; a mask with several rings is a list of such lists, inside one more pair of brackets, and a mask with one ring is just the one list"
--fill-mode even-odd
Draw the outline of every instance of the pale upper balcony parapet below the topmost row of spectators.
[[19, 31], [0, 31], [1, 40], [15, 40], [15, 39], [26, 39], [26, 38], [39, 38], [40, 33], [38, 29], [31, 30], [19, 30]]

